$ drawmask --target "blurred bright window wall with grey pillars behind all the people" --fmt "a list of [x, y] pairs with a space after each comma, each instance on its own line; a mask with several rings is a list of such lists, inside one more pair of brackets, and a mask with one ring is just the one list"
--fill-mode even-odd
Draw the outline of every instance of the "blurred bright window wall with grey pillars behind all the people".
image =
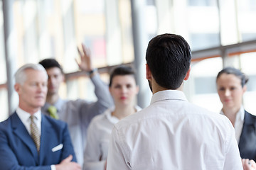
[[256, 114], [255, 0], [2, 0], [0, 7], [0, 121], [18, 103], [16, 69], [48, 57], [65, 72], [61, 97], [96, 100], [94, 86], [75, 62], [81, 43], [90, 48], [92, 64], [106, 83], [112, 67], [134, 65], [137, 103], [148, 106], [146, 46], [161, 33], [182, 35], [191, 45], [188, 101], [220, 112], [215, 77], [233, 66], [250, 78], [243, 103]]

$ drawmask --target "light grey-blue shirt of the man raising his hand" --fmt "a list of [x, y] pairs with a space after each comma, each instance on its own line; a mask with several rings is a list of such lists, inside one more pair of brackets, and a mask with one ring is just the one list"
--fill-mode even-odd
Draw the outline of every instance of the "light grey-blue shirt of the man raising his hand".
[[[95, 74], [91, 78], [92, 83], [95, 85], [95, 95], [97, 96], [96, 102], [85, 101], [78, 99], [75, 101], [58, 99], [54, 106], [57, 108], [57, 113], [60, 120], [68, 123], [68, 130], [73, 142], [75, 156], [78, 164], [83, 164], [83, 153], [86, 145], [87, 127], [90, 120], [95, 115], [103, 113], [107, 108], [113, 106], [112, 96], [99, 74]], [[50, 103], [46, 103], [42, 108], [42, 112], [46, 115]]]

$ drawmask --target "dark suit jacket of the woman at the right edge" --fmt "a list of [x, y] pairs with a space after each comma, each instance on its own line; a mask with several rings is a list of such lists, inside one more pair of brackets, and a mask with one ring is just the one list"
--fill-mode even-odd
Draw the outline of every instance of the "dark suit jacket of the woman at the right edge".
[[241, 158], [253, 159], [256, 162], [256, 116], [247, 111], [238, 147]]

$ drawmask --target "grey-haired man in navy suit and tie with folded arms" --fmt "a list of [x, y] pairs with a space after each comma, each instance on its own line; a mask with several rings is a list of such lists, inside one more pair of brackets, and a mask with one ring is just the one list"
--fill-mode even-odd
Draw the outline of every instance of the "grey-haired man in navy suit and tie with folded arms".
[[[41, 114], [48, 76], [41, 64], [25, 64], [15, 74], [16, 111], [0, 123], [0, 169], [80, 170], [68, 125]], [[72, 162], [73, 161], [73, 162]]]

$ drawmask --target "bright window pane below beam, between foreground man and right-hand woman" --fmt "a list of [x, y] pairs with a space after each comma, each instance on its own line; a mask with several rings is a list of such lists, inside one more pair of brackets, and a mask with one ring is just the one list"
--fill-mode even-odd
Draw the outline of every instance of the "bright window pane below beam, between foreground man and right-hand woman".
[[216, 93], [216, 76], [223, 67], [221, 57], [192, 62], [191, 75], [185, 81], [188, 100], [213, 112], [219, 112], [221, 103]]

